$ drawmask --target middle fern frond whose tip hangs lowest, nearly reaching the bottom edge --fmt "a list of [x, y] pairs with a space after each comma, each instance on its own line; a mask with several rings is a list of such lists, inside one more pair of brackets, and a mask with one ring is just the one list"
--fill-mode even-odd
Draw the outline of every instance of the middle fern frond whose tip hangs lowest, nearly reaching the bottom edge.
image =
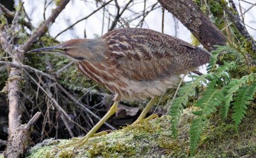
[[200, 135], [208, 122], [207, 116], [216, 111], [216, 107], [220, 105], [220, 100], [223, 97], [221, 90], [208, 90], [205, 91], [203, 97], [196, 102], [195, 107], [200, 107], [200, 110], [193, 112], [197, 117], [193, 120], [189, 131], [191, 155], [195, 154]]

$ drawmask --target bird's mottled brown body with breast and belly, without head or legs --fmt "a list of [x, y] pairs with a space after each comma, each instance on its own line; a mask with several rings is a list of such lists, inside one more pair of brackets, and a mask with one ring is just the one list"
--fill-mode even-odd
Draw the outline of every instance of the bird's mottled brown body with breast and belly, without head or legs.
[[105, 58], [100, 63], [84, 62], [82, 69], [116, 93], [115, 100], [161, 95], [175, 87], [180, 74], [210, 58], [204, 49], [150, 29], [115, 29], [101, 39], [107, 48]]

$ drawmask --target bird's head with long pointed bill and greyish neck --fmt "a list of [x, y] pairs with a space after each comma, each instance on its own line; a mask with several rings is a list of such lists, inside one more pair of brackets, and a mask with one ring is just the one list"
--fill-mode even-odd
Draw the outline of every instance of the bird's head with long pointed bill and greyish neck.
[[67, 56], [73, 61], [81, 60], [91, 60], [100, 61], [104, 52], [106, 51], [106, 46], [104, 41], [100, 38], [97, 39], [75, 39], [68, 40], [61, 44], [55, 45], [53, 47], [45, 47], [40, 49], [34, 49], [28, 51], [31, 52], [45, 52], [52, 54], [60, 54], [62, 56]]

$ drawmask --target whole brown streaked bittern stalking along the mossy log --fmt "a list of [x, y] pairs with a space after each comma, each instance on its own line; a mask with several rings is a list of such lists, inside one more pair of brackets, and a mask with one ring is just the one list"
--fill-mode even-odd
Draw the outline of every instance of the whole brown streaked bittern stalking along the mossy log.
[[151, 98], [135, 123], [143, 122], [157, 97], [176, 88], [180, 74], [209, 62], [211, 52], [151, 29], [114, 29], [99, 38], [72, 39], [53, 47], [29, 52], [46, 52], [70, 58], [79, 70], [115, 93], [108, 113], [78, 141], [84, 145], [118, 109], [120, 100]]

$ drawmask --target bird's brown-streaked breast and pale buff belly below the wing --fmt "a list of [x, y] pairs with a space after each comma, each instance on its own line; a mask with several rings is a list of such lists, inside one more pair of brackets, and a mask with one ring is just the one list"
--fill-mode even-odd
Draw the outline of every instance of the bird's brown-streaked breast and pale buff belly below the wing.
[[154, 81], [135, 81], [124, 77], [122, 72], [113, 65], [83, 61], [77, 64], [88, 77], [102, 84], [115, 93], [114, 100], [145, 99], [161, 95], [168, 88], [173, 88], [179, 82], [179, 75], [173, 75]]

